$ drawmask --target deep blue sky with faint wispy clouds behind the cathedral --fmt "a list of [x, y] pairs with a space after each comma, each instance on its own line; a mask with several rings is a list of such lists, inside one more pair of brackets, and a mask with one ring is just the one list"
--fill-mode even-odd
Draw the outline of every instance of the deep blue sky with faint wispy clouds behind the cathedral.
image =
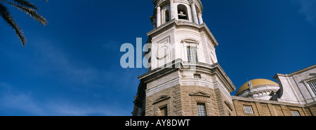
[[[0, 20], [0, 115], [131, 115], [146, 69], [121, 68], [119, 49], [147, 41], [152, 1], [34, 3], [46, 27], [11, 8], [25, 48]], [[316, 64], [315, 0], [202, 3], [218, 62], [237, 88]]]

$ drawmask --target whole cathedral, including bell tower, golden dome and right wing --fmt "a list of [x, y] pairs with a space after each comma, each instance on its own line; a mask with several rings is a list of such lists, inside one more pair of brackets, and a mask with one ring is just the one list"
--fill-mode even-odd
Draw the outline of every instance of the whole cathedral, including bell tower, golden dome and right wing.
[[[133, 116], [315, 116], [316, 65], [237, 89], [218, 64], [200, 0], [154, 0]], [[232, 96], [231, 93], [237, 93]]]

